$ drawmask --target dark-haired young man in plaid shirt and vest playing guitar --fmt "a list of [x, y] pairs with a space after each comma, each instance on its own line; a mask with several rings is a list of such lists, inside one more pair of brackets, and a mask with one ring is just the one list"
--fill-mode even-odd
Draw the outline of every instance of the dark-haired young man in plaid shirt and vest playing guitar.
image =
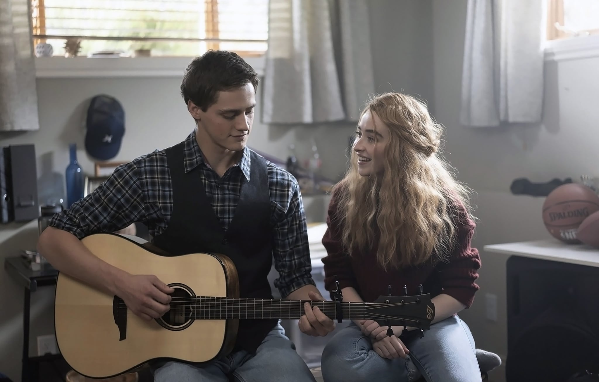
[[[216, 252], [237, 268], [240, 296], [272, 298], [274, 259], [282, 298], [323, 300], [311, 278], [304, 208], [288, 172], [246, 147], [256, 72], [241, 57], [208, 51], [187, 66], [181, 95], [196, 122], [183, 142], [119, 166], [104, 184], [56, 214], [38, 251], [60, 272], [119, 296], [146, 320], [165, 314], [173, 292], [154, 275], [130, 274], [99, 259], [80, 239], [145, 223], [153, 244], [176, 256]], [[122, 256], [127, 256], [123, 253]], [[305, 304], [299, 329], [324, 336], [334, 322]], [[240, 320], [234, 350], [202, 365], [167, 362], [164, 381], [314, 381], [277, 320]]]

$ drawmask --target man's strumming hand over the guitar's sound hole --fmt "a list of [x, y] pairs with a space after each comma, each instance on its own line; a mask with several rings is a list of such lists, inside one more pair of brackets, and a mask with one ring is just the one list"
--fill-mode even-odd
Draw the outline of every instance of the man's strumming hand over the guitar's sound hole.
[[174, 289], [154, 275], [126, 274], [116, 282], [116, 295], [144, 320], [158, 319], [170, 310]]

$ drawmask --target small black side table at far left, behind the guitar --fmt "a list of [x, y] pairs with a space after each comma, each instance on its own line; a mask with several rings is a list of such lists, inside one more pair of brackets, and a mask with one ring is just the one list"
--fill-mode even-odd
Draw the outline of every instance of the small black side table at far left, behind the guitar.
[[31, 292], [38, 287], [56, 284], [58, 271], [51, 266], [44, 266], [40, 271], [32, 271], [28, 268], [20, 256], [7, 257], [4, 260], [5, 271], [25, 290], [23, 305], [23, 359], [21, 380], [23, 382], [37, 381], [38, 362], [59, 359], [60, 354], [29, 357], [29, 308]]

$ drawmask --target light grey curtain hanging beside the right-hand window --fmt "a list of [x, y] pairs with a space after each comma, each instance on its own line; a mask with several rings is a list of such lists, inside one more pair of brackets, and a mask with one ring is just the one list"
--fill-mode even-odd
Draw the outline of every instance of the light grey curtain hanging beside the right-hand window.
[[468, 0], [462, 125], [541, 121], [545, 11], [544, 0]]

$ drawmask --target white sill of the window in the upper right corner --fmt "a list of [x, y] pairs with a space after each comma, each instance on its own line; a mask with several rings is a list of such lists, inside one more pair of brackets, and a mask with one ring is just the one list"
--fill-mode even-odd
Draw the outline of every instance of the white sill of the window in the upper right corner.
[[599, 57], [599, 35], [549, 41], [545, 48], [546, 61], [578, 60]]

